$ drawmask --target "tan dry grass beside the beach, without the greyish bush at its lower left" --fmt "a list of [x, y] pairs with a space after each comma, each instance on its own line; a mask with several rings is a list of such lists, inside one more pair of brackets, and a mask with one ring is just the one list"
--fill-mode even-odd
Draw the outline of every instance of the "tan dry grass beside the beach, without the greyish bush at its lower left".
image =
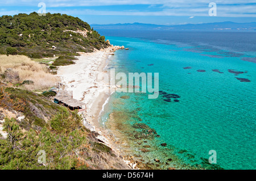
[[33, 81], [33, 85], [24, 85], [28, 90], [45, 90], [55, 86], [59, 79], [49, 73], [47, 66], [32, 61], [22, 55], [0, 55], [0, 74], [5, 73], [6, 69], [13, 69], [18, 72], [19, 81]]

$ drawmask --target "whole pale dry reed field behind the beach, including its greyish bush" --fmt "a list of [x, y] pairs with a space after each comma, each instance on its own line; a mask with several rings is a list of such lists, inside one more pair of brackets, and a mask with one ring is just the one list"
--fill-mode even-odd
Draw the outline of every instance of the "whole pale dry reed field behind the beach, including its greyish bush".
[[45, 64], [38, 64], [26, 56], [0, 55], [0, 81], [40, 91], [55, 86], [59, 79]]

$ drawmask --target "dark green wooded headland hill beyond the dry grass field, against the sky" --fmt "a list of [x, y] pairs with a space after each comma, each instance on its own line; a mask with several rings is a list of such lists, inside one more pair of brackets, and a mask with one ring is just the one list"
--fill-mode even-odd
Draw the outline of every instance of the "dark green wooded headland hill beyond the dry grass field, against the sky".
[[42, 58], [106, 47], [104, 36], [73, 16], [32, 12], [0, 17], [0, 54]]

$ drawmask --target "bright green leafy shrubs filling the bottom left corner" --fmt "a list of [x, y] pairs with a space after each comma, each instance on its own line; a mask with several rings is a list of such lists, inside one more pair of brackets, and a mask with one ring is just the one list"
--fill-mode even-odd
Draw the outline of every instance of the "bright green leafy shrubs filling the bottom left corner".
[[[84, 131], [73, 131], [65, 136], [45, 127], [40, 132], [30, 129], [23, 133], [14, 119], [6, 119], [3, 127], [9, 137], [0, 140], [1, 170], [86, 169], [85, 164], [79, 164], [76, 155], [76, 150], [86, 142]], [[46, 153], [45, 163], [38, 162], [42, 150]]]

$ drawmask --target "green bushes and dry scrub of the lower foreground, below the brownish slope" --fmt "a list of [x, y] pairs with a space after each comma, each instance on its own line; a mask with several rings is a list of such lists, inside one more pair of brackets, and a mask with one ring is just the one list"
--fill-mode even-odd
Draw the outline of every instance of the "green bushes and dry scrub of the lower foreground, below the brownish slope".
[[97, 133], [82, 126], [76, 112], [64, 107], [40, 129], [24, 129], [14, 118], [6, 118], [3, 128], [8, 137], [0, 134], [0, 170], [127, 169], [111, 148], [98, 142]]

